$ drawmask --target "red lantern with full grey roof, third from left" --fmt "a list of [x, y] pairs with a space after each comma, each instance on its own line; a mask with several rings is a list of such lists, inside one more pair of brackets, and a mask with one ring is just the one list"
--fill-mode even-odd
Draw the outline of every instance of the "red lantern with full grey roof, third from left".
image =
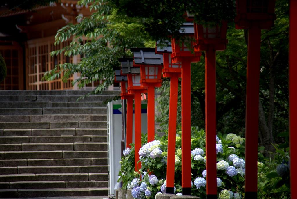
[[160, 87], [162, 84], [163, 56], [155, 54], [155, 48], [131, 48], [135, 64], [140, 64], [142, 86]]

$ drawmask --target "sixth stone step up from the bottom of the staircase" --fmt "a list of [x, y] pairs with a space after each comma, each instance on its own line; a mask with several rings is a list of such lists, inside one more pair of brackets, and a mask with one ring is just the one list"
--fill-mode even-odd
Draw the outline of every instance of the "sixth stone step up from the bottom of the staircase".
[[5, 151], [0, 159], [106, 158], [107, 151]]

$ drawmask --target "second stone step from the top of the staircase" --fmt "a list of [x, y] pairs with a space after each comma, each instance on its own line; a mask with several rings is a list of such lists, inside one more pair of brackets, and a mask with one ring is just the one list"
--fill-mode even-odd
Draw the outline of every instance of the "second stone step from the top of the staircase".
[[[117, 94], [90, 95], [78, 102], [103, 102]], [[2, 102], [76, 102], [79, 95], [1, 95]]]

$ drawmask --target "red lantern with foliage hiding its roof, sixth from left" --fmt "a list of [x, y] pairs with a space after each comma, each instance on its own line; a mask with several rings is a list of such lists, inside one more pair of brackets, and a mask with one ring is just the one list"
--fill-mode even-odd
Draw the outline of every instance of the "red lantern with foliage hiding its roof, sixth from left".
[[209, 45], [216, 51], [222, 51], [226, 49], [228, 40], [226, 39], [227, 34], [227, 21], [222, 21], [221, 24], [214, 26], [203, 26], [194, 23], [195, 30], [195, 51], [206, 51]]

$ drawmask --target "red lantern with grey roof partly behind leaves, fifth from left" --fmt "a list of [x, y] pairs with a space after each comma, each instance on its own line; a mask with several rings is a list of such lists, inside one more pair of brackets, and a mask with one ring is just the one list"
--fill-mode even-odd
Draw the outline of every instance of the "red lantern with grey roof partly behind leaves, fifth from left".
[[184, 36], [184, 41], [180, 41], [176, 38], [171, 38], [173, 62], [181, 62], [181, 57], [192, 57], [191, 62], [200, 61], [200, 52], [194, 52], [195, 46], [195, 35], [194, 35], [194, 24], [184, 23], [181, 26], [180, 34]]

